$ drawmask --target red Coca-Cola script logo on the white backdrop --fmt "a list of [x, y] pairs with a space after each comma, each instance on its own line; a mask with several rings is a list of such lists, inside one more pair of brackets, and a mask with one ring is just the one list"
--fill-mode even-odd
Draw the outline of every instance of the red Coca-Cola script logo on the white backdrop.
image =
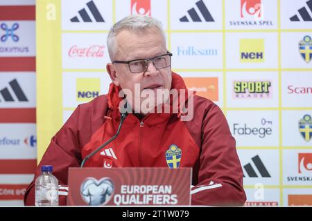
[[77, 45], [69, 48], [69, 57], [103, 57], [105, 46], [94, 44], [89, 48], [79, 48]]

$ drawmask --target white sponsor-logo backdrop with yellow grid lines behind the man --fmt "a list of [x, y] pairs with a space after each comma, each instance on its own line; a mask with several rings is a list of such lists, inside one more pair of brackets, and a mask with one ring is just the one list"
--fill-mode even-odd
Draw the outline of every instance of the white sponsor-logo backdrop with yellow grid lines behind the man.
[[[312, 188], [306, 155], [312, 152], [312, 0], [103, 2], [79, 0], [73, 6], [71, 0], [62, 1], [62, 24], [55, 32], [63, 39], [62, 64], [56, 70], [62, 69], [60, 124], [78, 104], [107, 93], [110, 26], [126, 15], [150, 15], [164, 24], [173, 70], [189, 89], [223, 109], [250, 194], [246, 205], [286, 206], [286, 189]], [[293, 174], [285, 173], [288, 161], [297, 162]], [[300, 162], [306, 175], [299, 172]], [[110, 162], [103, 165], [110, 167]], [[263, 186], [255, 190], [257, 184]], [[261, 188], [263, 198], [254, 198], [253, 191]]]

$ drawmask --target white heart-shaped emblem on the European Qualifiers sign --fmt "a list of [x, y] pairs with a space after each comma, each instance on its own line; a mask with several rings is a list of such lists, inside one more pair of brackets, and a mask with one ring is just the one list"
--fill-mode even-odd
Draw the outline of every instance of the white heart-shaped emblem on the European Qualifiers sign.
[[87, 177], [80, 186], [80, 195], [89, 206], [105, 205], [114, 194], [114, 184], [109, 177], [96, 180], [94, 177]]

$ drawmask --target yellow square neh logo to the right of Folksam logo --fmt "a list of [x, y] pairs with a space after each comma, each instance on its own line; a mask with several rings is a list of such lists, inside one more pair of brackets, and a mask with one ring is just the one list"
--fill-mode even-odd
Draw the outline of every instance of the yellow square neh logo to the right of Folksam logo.
[[242, 63], [264, 62], [264, 39], [240, 39], [239, 47]]

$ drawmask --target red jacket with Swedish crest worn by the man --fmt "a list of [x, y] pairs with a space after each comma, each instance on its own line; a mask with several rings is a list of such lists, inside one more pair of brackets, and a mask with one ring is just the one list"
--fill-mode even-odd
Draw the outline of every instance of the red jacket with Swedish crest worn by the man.
[[[171, 88], [187, 89], [182, 77], [175, 73]], [[120, 121], [119, 90], [111, 84], [108, 95], [76, 108], [52, 138], [37, 166], [25, 193], [26, 205], [35, 204], [35, 178], [46, 164], [53, 165], [53, 174], [60, 183], [59, 204], [66, 205], [69, 167], [79, 167], [85, 156], [116, 133]], [[177, 114], [148, 114], [140, 121], [129, 114], [119, 136], [105, 147], [110, 148], [110, 154], [101, 155], [100, 151], [85, 166], [166, 167], [166, 151], [176, 145], [182, 151], [180, 165], [176, 166], [193, 168], [191, 204], [243, 205], [243, 171], [225, 116], [209, 99], [194, 95], [193, 103], [191, 121], [181, 121]]]

